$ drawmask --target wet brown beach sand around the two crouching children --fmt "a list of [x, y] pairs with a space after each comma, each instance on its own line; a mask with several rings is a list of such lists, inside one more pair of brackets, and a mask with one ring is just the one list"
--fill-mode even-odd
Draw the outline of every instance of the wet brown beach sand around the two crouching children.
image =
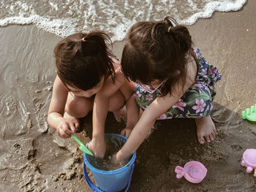
[[[195, 46], [222, 73], [211, 113], [218, 135], [200, 145], [192, 119], [158, 121], [137, 151], [129, 191], [256, 191], [256, 177], [241, 166], [241, 155], [256, 141], [255, 123], [241, 119], [241, 111], [256, 103], [255, 9], [249, 0], [238, 12], [215, 12], [188, 26]], [[34, 26], [0, 28], [1, 191], [91, 191], [77, 143], [59, 138], [46, 121], [60, 39]], [[113, 45], [118, 58], [123, 45]], [[77, 135], [85, 143], [91, 114], [81, 124]], [[105, 132], [122, 128], [109, 114]], [[208, 169], [202, 183], [176, 178], [175, 167], [192, 160]]]

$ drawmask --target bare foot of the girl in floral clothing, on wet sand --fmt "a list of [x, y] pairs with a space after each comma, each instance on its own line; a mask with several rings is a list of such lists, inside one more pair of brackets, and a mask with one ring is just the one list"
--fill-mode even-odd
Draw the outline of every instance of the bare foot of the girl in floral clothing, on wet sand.
[[200, 144], [203, 144], [205, 139], [207, 142], [214, 140], [217, 131], [210, 115], [203, 118], [195, 118], [195, 124], [197, 126], [197, 139]]

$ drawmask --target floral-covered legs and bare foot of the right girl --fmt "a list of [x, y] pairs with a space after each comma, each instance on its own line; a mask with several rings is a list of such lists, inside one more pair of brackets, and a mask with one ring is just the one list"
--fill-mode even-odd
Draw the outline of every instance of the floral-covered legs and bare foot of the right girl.
[[[149, 100], [153, 101], [156, 98], [154, 95], [143, 93], [138, 88], [135, 91], [137, 91], [135, 92], [136, 101], [140, 108], [146, 108], [151, 103]], [[214, 88], [210, 90], [206, 84], [195, 83], [173, 107], [158, 119], [195, 118], [198, 142], [203, 144], [205, 139], [210, 142], [214, 140], [217, 134], [214, 122], [210, 116], [212, 109], [211, 101], [214, 95]]]

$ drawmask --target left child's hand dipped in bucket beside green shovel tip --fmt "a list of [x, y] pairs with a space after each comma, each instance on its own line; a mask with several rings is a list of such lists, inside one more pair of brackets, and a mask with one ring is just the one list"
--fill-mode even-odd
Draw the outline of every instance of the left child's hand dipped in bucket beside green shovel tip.
[[105, 139], [92, 139], [88, 146], [89, 150], [98, 158], [104, 158], [107, 147]]

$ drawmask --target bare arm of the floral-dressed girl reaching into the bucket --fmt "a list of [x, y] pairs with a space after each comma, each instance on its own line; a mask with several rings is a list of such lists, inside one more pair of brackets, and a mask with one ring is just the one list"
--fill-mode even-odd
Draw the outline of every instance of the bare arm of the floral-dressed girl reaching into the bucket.
[[181, 81], [177, 82], [173, 86], [173, 94], [170, 96], [168, 93], [164, 97], [157, 97], [143, 112], [140, 120], [133, 128], [127, 142], [116, 154], [116, 159], [113, 159], [116, 163], [120, 163], [125, 159], [129, 158], [135, 150], [141, 145], [144, 139], [148, 136], [149, 131], [152, 126], [154, 126], [155, 121], [159, 116], [170, 109], [176, 102], [184, 95], [187, 89], [193, 84], [195, 80], [197, 69], [194, 65], [190, 64], [187, 68], [187, 77], [184, 87]]

